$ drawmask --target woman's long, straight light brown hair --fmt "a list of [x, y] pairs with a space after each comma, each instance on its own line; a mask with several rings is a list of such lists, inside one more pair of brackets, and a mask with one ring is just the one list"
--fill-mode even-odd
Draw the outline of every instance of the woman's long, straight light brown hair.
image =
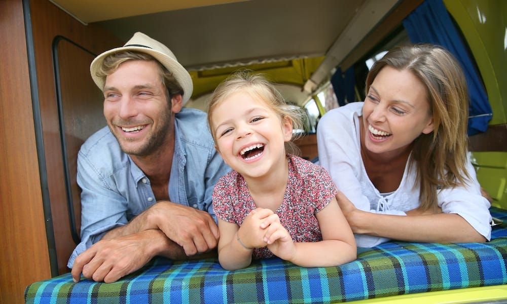
[[421, 208], [436, 208], [439, 189], [464, 185], [469, 179], [465, 169], [469, 101], [463, 71], [442, 47], [399, 46], [375, 62], [368, 73], [366, 92], [385, 66], [412, 72], [426, 88], [434, 130], [414, 140], [410, 162], [417, 164]]

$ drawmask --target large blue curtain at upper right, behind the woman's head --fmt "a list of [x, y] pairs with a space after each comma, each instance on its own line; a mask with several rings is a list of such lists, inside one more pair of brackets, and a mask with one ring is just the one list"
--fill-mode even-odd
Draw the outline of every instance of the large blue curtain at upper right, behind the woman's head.
[[403, 25], [412, 43], [441, 45], [458, 59], [470, 95], [468, 135], [486, 131], [493, 115], [491, 105], [443, 1], [424, 1], [403, 20]]

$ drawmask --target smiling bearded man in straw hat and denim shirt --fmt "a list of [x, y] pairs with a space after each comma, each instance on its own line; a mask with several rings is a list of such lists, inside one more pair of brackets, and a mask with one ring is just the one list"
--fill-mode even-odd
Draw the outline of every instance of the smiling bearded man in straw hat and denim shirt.
[[108, 126], [78, 155], [81, 243], [67, 264], [74, 280], [114, 282], [157, 255], [214, 254], [211, 193], [230, 168], [214, 149], [205, 113], [183, 108], [190, 74], [140, 32], [97, 56], [90, 71]]

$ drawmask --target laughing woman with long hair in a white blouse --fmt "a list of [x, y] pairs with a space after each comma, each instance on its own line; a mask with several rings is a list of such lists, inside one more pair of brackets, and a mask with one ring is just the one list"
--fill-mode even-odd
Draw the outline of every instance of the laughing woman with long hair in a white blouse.
[[490, 203], [467, 158], [468, 95], [455, 58], [432, 45], [394, 48], [373, 65], [366, 93], [317, 129], [320, 165], [357, 246], [489, 240]]

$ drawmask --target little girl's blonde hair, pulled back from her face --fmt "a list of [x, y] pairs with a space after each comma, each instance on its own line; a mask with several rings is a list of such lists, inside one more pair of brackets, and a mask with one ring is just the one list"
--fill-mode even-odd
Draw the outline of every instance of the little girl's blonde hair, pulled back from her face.
[[[231, 94], [244, 91], [253, 97], [266, 103], [280, 120], [289, 119], [292, 122], [293, 129], [303, 129], [305, 114], [299, 106], [289, 105], [285, 102], [280, 92], [276, 90], [271, 82], [267, 80], [264, 74], [254, 73], [251, 70], [240, 69], [230, 75], [214, 90], [208, 105], [208, 124], [211, 135], [216, 142], [216, 136], [213, 130], [212, 114], [213, 110]], [[298, 135], [293, 133], [291, 140], [295, 140]], [[299, 155], [299, 148], [292, 141], [285, 142], [285, 153]]]

